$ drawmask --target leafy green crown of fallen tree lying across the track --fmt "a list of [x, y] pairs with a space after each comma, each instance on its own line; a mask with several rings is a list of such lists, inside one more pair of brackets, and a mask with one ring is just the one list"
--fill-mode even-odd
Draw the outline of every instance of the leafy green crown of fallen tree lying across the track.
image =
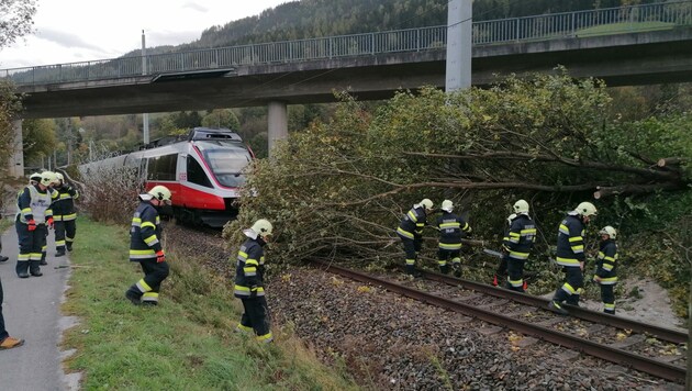
[[[455, 94], [433, 88], [402, 91], [375, 112], [344, 94], [331, 122], [291, 134], [271, 159], [254, 163], [244, 208], [226, 233], [266, 217], [278, 232], [274, 261], [319, 258], [384, 266], [400, 262], [394, 230], [422, 198], [436, 205], [455, 201], [457, 211], [468, 211], [475, 238], [490, 246], [499, 245], [504, 216], [523, 198], [539, 226], [532, 268], [549, 270], [559, 221], [592, 199], [598, 186], [670, 181], [673, 197], [690, 193], [689, 177], [649, 166], [671, 152], [690, 156], [683, 130], [692, 119], [620, 123], [609, 119], [609, 104], [604, 87], [574, 81], [563, 70], [509, 77], [490, 89]], [[640, 224], [643, 215], [663, 220], [658, 205], [671, 197], [655, 190], [615, 194], [594, 201], [596, 224], [625, 230], [625, 238], [649, 230]], [[690, 206], [676, 202], [671, 213], [680, 208]], [[591, 249], [598, 248], [599, 228], [589, 227]], [[426, 238], [423, 259], [434, 266], [435, 232]]]

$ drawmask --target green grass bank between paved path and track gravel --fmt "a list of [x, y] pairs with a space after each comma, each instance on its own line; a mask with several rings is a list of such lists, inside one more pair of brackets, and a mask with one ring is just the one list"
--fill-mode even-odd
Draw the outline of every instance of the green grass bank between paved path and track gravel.
[[66, 366], [83, 372], [85, 390], [357, 389], [276, 325], [270, 345], [234, 333], [242, 306], [228, 281], [194, 259], [176, 259], [175, 250], [160, 305], [132, 305], [124, 292], [142, 272], [127, 260], [127, 235], [126, 227], [78, 221], [63, 312], [80, 324], [63, 347], [76, 349]]

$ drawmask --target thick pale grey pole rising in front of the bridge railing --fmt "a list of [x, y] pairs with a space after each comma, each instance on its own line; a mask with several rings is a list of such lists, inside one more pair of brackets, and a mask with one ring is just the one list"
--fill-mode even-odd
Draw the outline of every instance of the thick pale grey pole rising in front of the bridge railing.
[[471, 87], [472, 1], [450, 0], [447, 9], [445, 91]]

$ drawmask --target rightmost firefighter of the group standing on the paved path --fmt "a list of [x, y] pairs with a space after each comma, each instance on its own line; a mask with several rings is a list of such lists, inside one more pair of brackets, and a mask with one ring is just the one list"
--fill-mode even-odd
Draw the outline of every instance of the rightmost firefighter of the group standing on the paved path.
[[75, 241], [75, 233], [77, 226], [75, 220], [77, 213], [75, 212], [75, 200], [79, 198], [79, 192], [65, 183], [65, 177], [60, 172], [55, 174], [57, 182], [55, 190], [57, 191], [57, 200], [53, 202], [53, 220], [55, 220], [55, 256], [62, 257], [65, 255], [65, 249], [72, 250], [72, 242]]

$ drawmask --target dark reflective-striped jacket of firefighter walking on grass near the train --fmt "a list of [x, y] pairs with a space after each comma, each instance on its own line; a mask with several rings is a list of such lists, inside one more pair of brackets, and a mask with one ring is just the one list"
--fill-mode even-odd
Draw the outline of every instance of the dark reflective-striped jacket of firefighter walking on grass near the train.
[[158, 211], [149, 201], [139, 202], [130, 227], [130, 260], [156, 259], [161, 249], [161, 225]]

